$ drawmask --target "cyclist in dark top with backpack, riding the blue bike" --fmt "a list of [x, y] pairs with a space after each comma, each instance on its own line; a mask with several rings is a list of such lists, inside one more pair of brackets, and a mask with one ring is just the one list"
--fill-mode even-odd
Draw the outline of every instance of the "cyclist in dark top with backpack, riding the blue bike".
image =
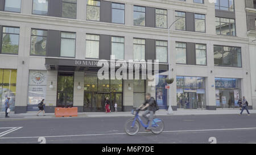
[[[146, 101], [141, 106], [139, 106], [138, 109], [144, 110], [147, 108], [147, 110], [143, 113], [142, 116], [146, 118], [147, 121], [150, 121], [150, 124], [146, 128], [146, 132], [150, 132], [155, 111], [158, 109], [156, 107], [157, 105], [156, 105], [155, 99], [151, 97], [151, 94], [146, 93], [145, 95], [146, 95]], [[150, 116], [148, 117], [147, 114], [150, 114]]]

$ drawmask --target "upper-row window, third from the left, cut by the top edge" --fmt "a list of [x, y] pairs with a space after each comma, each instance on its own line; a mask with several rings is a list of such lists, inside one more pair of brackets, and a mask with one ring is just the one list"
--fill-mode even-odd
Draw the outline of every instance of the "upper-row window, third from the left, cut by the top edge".
[[61, 17], [76, 19], [76, 0], [62, 0]]

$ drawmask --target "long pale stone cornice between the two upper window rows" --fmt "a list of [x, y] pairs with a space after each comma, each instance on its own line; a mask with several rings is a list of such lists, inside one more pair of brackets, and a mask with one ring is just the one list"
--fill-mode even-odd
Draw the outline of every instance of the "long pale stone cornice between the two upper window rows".
[[[11, 22], [34, 23], [34, 24], [41, 24], [41, 25], [48, 24], [50, 26], [59, 26], [59, 27], [88, 28], [93, 30], [127, 32], [127, 33], [143, 34], [143, 35], [156, 35], [156, 36], [168, 37], [168, 30], [163, 28], [139, 27], [139, 26], [130, 26], [125, 24], [94, 22], [94, 21], [88, 21], [88, 20], [57, 18], [53, 16], [40, 16], [40, 15], [32, 15], [32, 14], [28, 15], [28, 14], [19, 14], [14, 12], [0, 11], [0, 24], [2, 24], [1, 21], [3, 20], [11, 21]], [[18, 25], [15, 25], [15, 26], [18, 26]], [[232, 43], [248, 43], [249, 41], [248, 38], [244, 38], [244, 37], [220, 36], [220, 35], [212, 35], [212, 34], [200, 33], [200, 32], [176, 31], [176, 30], [171, 30], [170, 36], [183, 37], [187, 39], [226, 41], [226, 42], [232, 42]]]

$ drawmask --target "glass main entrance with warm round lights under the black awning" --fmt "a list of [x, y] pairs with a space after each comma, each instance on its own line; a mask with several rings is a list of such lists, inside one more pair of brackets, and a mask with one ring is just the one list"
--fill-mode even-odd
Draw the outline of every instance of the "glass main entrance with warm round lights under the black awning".
[[97, 73], [85, 73], [84, 77], [84, 111], [105, 111], [105, 100], [110, 100], [110, 110], [118, 111], [123, 107], [123, 81], [118, 79], [98, 79]]

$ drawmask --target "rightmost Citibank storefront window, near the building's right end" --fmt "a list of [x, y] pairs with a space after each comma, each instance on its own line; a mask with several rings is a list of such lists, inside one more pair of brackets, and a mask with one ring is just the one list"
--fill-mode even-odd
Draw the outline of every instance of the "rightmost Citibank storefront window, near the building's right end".
[[241, 79], [215, 78], [217, 108], [236, 108], [241, 95]]

